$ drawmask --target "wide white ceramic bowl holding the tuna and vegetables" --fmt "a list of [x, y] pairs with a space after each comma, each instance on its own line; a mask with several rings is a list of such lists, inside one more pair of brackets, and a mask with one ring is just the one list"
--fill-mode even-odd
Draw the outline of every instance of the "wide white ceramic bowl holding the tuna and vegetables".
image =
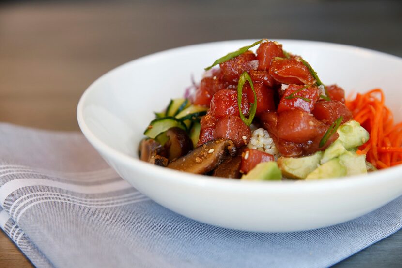
[[[153, 111], [180, 97], [194, 75], [226, 53], [255, 40], [191, 45], [128, 62], [100, 77], [83, 94], [79, 126], [124, 179], [160, 205], [191, 219], [256, 232], [290, 232], [343, 223], [402, 194], [402, 166], [320, 181], [252, 182], [219, 179], [141, 162], [139, 141]], [[278, 40], [304, 59], [326, 84], [347, 93], [381, 87], [401, 120], [402, 59], [368, 49]]]

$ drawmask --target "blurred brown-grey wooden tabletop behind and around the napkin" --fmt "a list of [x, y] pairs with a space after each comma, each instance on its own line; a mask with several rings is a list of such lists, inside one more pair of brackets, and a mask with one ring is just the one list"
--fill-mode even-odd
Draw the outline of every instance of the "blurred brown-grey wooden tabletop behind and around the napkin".
[[[309, 39], [402, 56], [399, 1], [0, 3], [0, 121], [78, 130], [76, 106], [101, 74], [140, 56], [196, 43]], [[402, 231], [337, 267], [401, 267]], [[0, 233], [0, 267], [30, 267]]]

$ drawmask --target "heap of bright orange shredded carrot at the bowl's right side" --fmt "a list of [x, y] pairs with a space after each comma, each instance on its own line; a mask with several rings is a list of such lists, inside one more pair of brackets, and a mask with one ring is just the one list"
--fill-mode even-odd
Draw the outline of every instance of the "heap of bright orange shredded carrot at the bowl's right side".
[[358, 93], [355, 99], [346, 101], [353, 118], [370, 133], [370, 139], [359, 147], [358, 154], [366, 154], [366, 160], [382, 169], [402, 164], [402, 122], [394, 125], [393, 114], [385, 106], [381, 89]]

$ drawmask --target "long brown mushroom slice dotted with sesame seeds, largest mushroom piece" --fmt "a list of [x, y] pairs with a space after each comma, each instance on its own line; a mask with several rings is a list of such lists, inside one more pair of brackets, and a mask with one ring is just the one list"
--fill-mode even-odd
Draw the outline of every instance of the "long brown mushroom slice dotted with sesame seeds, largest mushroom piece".
[[234, 143], [231, 140], [217, 139], [209, 141], [187, 155], [172, 161], [168, 167], [196, 174], [205, 174], [221, 164], [228, 154], [236, 154]]

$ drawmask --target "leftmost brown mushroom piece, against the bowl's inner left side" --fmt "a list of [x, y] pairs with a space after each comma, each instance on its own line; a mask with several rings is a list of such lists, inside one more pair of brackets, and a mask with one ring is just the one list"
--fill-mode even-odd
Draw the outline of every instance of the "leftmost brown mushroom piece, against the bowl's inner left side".
[[165, 149], [155, 140], [143, 139], [141, 140], [139, 148], [139, 158], [142, 161], [161, 166], [168, 164], [168, 159], [162, 156], [165, 154]]

